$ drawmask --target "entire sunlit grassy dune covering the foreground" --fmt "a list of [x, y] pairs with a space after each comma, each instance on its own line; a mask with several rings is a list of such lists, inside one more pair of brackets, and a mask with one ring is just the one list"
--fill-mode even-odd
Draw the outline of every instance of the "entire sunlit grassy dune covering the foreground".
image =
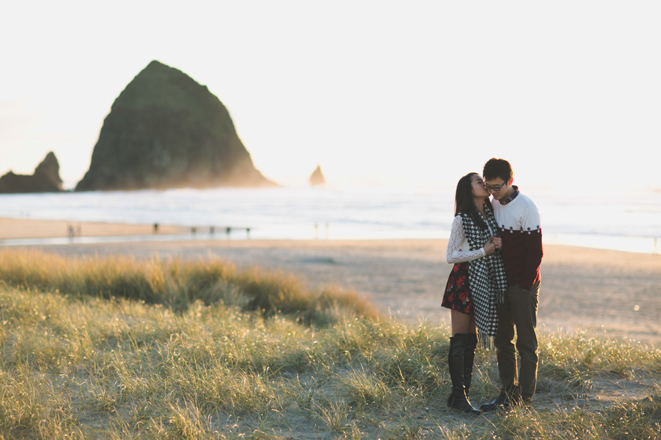
[[[655, 439], [661, 350], [540, 335], [534, 406], [445, 406], [449, 329], [222, 261], [0, 252], [0, 439]], [[474, 403], [493, 399], [476, 353]]]

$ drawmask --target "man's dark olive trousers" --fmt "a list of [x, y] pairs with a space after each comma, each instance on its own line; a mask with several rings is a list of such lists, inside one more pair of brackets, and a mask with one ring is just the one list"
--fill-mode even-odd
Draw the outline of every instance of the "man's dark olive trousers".
[[[537, 298], [539, 281], [530, 292], [513, 285], [507, 287], [506, 304], [498, 310], [498, 331], [494, 338], [501, 383], [507, 393], [517, 393], [528, 399], [537, 385]], [[514, 330], [516, 329], [516, 347]], [[516, 351], [521, 356], [521, 369], [516, 366]]]

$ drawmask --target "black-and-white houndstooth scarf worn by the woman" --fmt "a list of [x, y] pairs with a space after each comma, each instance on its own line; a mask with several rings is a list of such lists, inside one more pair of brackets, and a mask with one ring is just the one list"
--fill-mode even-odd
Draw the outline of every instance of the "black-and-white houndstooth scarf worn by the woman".
[[[482, 248], [490, 238], [489, 230], [479, 227], [467, 212], [460, 212], [463, 232], [470, 245], [470, 250]], [[487, 223], [496, 236], [499, 228], [496, 219], [487, 213]], [[473, 300], [475, 325], [480, 334], [482, 347], [493, 347], [494, 336], [498, 329], [496, 309], [499, 304], [505, 304], [507, 278], [505, 265], [500, 252], [494, 252], [468, 264], [468, 286]]]

